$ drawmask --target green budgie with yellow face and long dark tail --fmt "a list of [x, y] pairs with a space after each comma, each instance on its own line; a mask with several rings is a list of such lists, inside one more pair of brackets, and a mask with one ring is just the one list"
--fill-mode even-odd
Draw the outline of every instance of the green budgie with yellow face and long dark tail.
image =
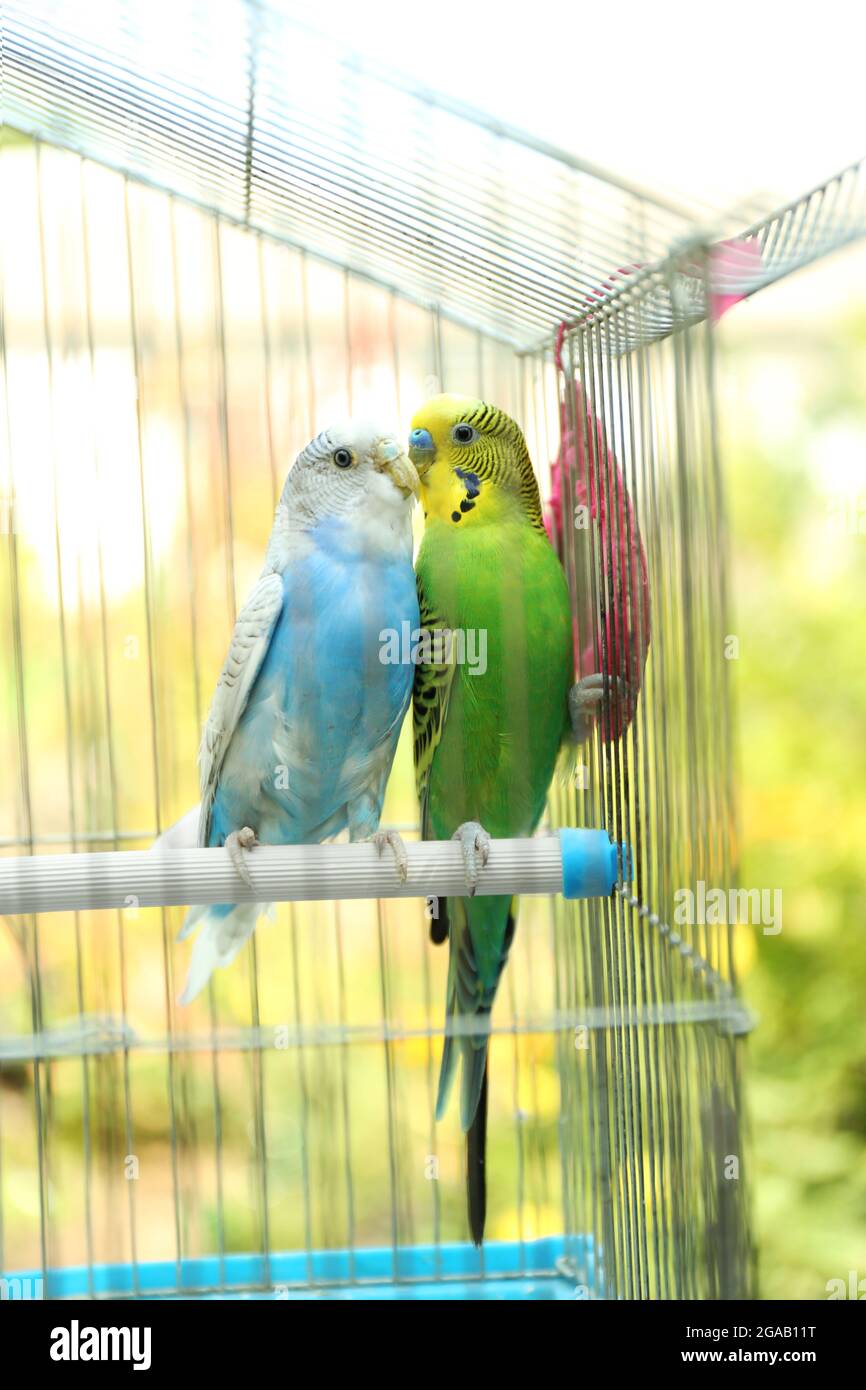
[[[468, 1220], [484, 1237], [489, 1015], [514, 902], [474, 897], [491, 837], [530, 835], [563, 739], [585, 737], [601, 676], [573, 687], [569, 589], [544, 527], [527, 443], [495, 406], [435, 396], [411, 423], [425, 530], [416, 574], [421, 628], [435, 634], [414, 684], [416, 777], [425, 838], [459, 840], [467, 898], [441, 905], [431, 935], [450, 937], [446, 1036], [436, 1119], [463, 1061]], [[450, 639], [448, 634], [452, 634]], [[470, 659], [467, 659], [470, 657]]]

